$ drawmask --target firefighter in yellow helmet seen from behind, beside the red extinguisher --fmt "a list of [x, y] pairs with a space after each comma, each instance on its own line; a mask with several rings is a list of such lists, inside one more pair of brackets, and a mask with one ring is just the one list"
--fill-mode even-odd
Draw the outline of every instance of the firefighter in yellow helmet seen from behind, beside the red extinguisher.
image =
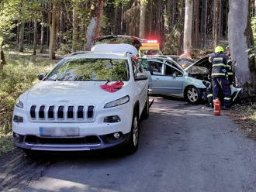
[[223, 93], [223, 109], [230, 108], [231, 89], [227, 79], [227, 60], [228, 57], [223, 53], [222, 46], [216, 46], [215, 53], [210, 54], [209, 62], [213, 64], [212, 68], [212, 86], [213, 100], [220, 99], [219, 91]]

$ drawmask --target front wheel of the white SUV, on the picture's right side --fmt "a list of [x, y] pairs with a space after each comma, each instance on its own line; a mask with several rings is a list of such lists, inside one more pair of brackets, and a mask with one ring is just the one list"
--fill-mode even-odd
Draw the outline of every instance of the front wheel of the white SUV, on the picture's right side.
[[139, 115], [136, 111], [133, 112], [133, 122], [130, 131], [130, 138], [128, 140], [126, 149], [128, 154], [133, 154], [137, 151], [139, 146]]

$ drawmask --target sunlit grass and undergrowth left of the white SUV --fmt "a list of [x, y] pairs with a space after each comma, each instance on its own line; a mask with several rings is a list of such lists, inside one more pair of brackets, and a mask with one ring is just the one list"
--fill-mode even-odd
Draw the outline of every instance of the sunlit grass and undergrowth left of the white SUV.
[[9, 132], [12, 130], [12, 110], [16, 99], [47, 73], [58, 60], [33, 56], [31, 53], [5, 51], [6, 65], [0, 72], [0, 153], [12, 149]]

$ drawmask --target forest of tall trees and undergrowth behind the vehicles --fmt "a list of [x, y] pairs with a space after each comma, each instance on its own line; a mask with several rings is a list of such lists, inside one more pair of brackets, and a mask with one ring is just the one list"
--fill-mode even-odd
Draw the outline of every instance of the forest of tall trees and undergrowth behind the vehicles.
[[[255, 4], [254, 0], [0, 0], [0, 112], [12, 111], [19, 94], [33, 84], [36, 73], [49, 70], [57, 54], [90, 50], [95, 37], [110, 34], [157, 39], [164, 54], [195, 58], [217, 45], [230, 45], [236, 84], [243, 87], [244, 97], [254, 96]], [[47, 53], [50, 61], [40, 59], [40, 66], [33, 57], [35, 65], [27, 65], [26, 55], [14, 62], [21, 53]], [[9, 122], [5, 119], [10, 114], [2, 115], [0, 125]]]

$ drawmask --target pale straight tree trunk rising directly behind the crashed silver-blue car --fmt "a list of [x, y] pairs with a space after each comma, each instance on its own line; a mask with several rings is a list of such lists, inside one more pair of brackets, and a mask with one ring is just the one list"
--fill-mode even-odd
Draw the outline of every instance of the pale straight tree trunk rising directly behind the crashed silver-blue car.
[[183, 52], [188, 57], [191, 57], [190, 52], [192, 48], [192, 19], [193, 19], [193, 0], [185, 0]]

